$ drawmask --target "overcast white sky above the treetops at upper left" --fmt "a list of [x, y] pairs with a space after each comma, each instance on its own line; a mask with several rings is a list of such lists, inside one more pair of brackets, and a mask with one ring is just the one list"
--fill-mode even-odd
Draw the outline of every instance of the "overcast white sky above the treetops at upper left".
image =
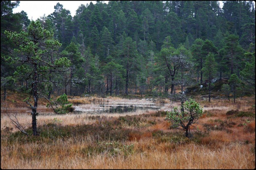
[[[54, 6], [57, 3], [63, 5], [63, 8], [69, 10], [71, 12], [72, 17], [76, 14], [76, 10], [78, 6], [81, 4], [96, 4], [96, 1], [20, 1], [20, 5], [17, 8], [14, 8], [13, 13], [17, 13], [20, 11], [25, 11], [28, 14], [28, 19], [36, 20], [45, 14], [45, 16], [54, 12]], [[108, 1], [104, 1], [108, 4]]]

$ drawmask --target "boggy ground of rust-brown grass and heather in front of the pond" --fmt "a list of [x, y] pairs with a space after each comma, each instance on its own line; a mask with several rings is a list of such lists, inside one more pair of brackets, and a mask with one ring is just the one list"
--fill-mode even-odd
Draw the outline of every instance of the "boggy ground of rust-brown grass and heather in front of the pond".
[[[235, 104], [198, 102], [204, 114], [191, 139], [170, 128], [163, 110], [46, 116], [38, 124], [37, 137], [13, 132], [6, 124], [1, 126], [1, 168], [255, 168], [255, 98], [237, 99]], [[2, 113], [1, 123], [4, 120]], [[27, 132], [32, 134], [31, 128]]]

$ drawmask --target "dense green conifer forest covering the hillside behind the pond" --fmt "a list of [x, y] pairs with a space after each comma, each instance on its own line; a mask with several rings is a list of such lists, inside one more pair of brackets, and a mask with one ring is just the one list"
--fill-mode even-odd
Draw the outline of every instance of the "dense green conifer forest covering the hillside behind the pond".
[[[232, 74], [244, 89], [254, 91], [253, 1], [223, 1], [222, 8], [219, 1], [97, 1], [78, 6], [74, 17], [57, 3], [51, 15], [35, 21], [26, 11], [13, 13], [18, 5], [1, 2], [4, 91], [30, 91], [33, 63], [42, 79], [41, 95], [48, 99], [54, 92], [174, 94]], [[32, 37], [32, 31], [38, 33], [35, 28], [48, 38]], [[51, 47], [44, 46], [46, 39]], [[28, 42], [39, 44], [28, 49]], [[39, 58], [31, 59], [32, 52]], [[207, 65], [210, 60], [216, 62], [213, 70]]]

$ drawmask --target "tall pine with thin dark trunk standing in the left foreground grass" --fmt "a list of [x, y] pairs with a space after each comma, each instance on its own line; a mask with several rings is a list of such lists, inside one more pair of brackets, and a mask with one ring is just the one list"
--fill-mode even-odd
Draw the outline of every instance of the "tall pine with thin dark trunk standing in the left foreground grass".
[[69, 66], [70, 61], [63, 57], [56, 59], [54, 63], [49, 62], [48, 54], [57, 51], [61, 44], [53, 39], [53, 33], [43, 30], [40, 21], [32, 21], [27, 32], [5, 31], [5, 34], [13, 43], [19, 45], [19, 48], [15, 49], [18, 54], [17, 57], [11, 58], [13, 61], [20, 63], [15, 69], [14, 76], [18, 79], [26, 77], [32, 80], [29, 87], [34, 104], [32, 106], [30, 98], [26, 99], [26, 102], [32, 110], [33, 135], [38, 135], [36, 127], [38, 97], [44, 96], [44, 85], [46, 83], [53, 83], [53, 81], [47, 79], [49, 71], [51, 69], [52, 72], [58, 73], [57, 69]]

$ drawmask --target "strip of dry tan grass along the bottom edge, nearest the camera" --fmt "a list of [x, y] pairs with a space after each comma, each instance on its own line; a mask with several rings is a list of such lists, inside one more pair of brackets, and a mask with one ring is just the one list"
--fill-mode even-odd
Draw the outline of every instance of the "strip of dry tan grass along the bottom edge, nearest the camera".
[[[188, 143], [156, 144], [155, 140], [143, 138], [130, 141], [134, 152], [128, 156], [109, 155], [107, 151], [87, 156], [83, 148], [88, 147], [86, 139], [76, 143], [71, 139], [65, 143], [57, 140], [52, 144], [23, 144], [19, 142], [6, 148], [1, 146], [1, 168], [3, 169], [253, 169], [255, 154], [252, 145], [232, 143], [218, 149], [207, 145]], [[142, 150], [143, 152], [140, 152]], [[6, 153], [11, 153], [7, 156]], [[29, 158], [29, 159], [28, 159]]]

